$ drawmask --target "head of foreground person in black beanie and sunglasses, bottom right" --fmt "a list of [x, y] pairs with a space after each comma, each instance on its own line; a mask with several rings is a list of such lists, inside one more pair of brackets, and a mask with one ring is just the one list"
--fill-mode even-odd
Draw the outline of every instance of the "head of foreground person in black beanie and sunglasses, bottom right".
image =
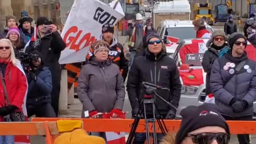
[[188, 106], [180, 115], [182, 121], [175, 144], [228, 144], [230, 130], [216, 105], [204, 103]]

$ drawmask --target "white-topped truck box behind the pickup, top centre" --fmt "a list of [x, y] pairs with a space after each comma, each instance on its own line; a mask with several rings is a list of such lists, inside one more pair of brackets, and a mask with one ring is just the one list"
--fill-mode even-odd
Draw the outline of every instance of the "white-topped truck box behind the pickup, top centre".
[[156, 2], [153, 9], [153, 25], [156, 28], [163, 20], [190, 20], [188, 0]]

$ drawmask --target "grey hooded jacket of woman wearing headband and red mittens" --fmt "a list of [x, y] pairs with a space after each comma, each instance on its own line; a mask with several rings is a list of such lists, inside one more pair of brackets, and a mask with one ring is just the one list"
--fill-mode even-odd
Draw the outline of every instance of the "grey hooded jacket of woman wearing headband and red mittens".
[[82, 67], [78, 78], [78, 98], [84, 111], [111, 112], [122, 110], [124, 105], [124, 82], [119, 68], [111, 64], [110, 58], [104, 63], [90, 57], [89, 63]]

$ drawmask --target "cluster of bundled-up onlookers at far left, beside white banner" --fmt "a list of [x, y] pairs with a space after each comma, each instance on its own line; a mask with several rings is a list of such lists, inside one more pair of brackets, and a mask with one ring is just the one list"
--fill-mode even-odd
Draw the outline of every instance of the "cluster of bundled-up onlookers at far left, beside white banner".
[[[26, 11], [19, 22], [15, 16], [6, 16], [0, 33], [0, 122], [58, 116], [58, 60], [66, 44], [48, 18], [37, 19], [36, 31], [32, 21]], [[14, 136], [0, 136], [0, 144], [14, 144]]]

